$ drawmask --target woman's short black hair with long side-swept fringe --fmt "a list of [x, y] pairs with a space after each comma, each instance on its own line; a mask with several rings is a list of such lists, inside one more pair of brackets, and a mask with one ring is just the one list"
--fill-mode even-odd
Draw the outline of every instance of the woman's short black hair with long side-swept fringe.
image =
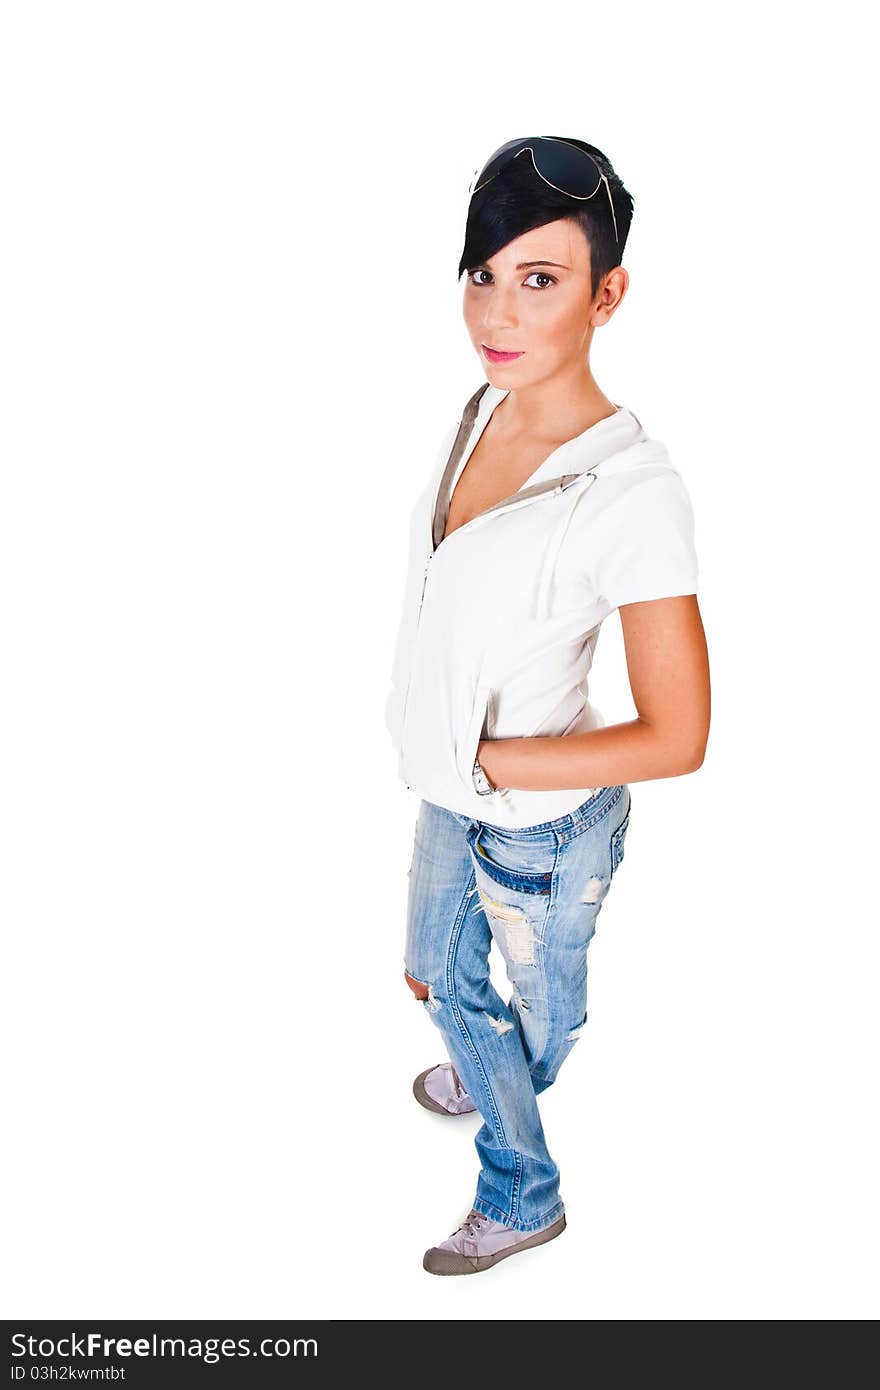
[[534, 227], [544, 227], [546, 222], [556, 222], [563, 217], [577, 222], [587, 238], [591, 297], [595, 297], [602, 277], [614, 265], [620, 265], [633, 222], [633, 195], [623, 186], [612, 161], [602, 150], [598, 150], [595, 145], [587, 145], [585, 140], [570, 139], [567, 135], [563, 139], [592, 154], [599, 170], [606, 175], [620, 240], [614, 238], [614, 222], [608, 206], [605, 185], [589, 202], [577, 203], [545, 183], [535, 172], [531, 156], [525, 152], [510, 160], [500, 174], [473, 195], [467, 210], [459, 279], [466, 270], [474, 270], [474, 267], [488, 261], [514, 236], [521, 236], [523, 232], [530, 232]]

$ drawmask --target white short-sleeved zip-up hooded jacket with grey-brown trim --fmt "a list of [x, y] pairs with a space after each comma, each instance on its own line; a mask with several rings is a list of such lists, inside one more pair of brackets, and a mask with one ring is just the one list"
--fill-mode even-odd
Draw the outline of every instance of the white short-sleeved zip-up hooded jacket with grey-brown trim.
[[478, 795], [481, 739], [602, 727], [588, 695], [602, 621], [621, 603], [695, 594], [698, 563], [681, 475], [623, 406], [443, 539], [455, 485], [506, 395], [474, 392], [412, 513], [385, 721], [416, 795], [520, 828], [596, 788]]

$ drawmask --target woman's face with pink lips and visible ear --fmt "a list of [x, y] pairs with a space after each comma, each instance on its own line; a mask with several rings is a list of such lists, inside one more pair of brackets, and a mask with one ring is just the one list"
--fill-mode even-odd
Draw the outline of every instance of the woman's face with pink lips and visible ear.
[[[535, 227], [473, 267], [464, 322], [492, 385], [516, 389], [582, 367], [594, 328], [610, 318], [628, 275], [617, 267], [589, 295], [589, 243], [577, 222]], [[487, 348], [521, 353], [496, 360]]]

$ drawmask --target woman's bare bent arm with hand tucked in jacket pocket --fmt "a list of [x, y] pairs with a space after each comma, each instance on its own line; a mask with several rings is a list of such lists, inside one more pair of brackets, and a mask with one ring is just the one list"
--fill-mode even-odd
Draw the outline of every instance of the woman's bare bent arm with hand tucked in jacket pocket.
[[563, 738], [484, 739], [480, 763], [494, 787], [614, 787], [701, 766], [710, 682], [696, 595], [624, 603], [620, 624], [638, 719]]

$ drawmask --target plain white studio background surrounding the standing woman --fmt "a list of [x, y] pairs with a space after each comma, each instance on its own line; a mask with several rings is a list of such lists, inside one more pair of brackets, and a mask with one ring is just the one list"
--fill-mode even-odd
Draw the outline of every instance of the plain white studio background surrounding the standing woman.
[[[863, 19], [4, 7], [4, 1316], [877, 1315]], [[477, 1122], [410, 1093], [382, 712], [484, 379], [467, 185], [534, 132], [635, 197], [592, 367], [691, 491], [713, 724], [633, 784], [541, 1099], [569, 1227], [437, 1279]], [[616, 616], [594, 694], [633, 716]]]

